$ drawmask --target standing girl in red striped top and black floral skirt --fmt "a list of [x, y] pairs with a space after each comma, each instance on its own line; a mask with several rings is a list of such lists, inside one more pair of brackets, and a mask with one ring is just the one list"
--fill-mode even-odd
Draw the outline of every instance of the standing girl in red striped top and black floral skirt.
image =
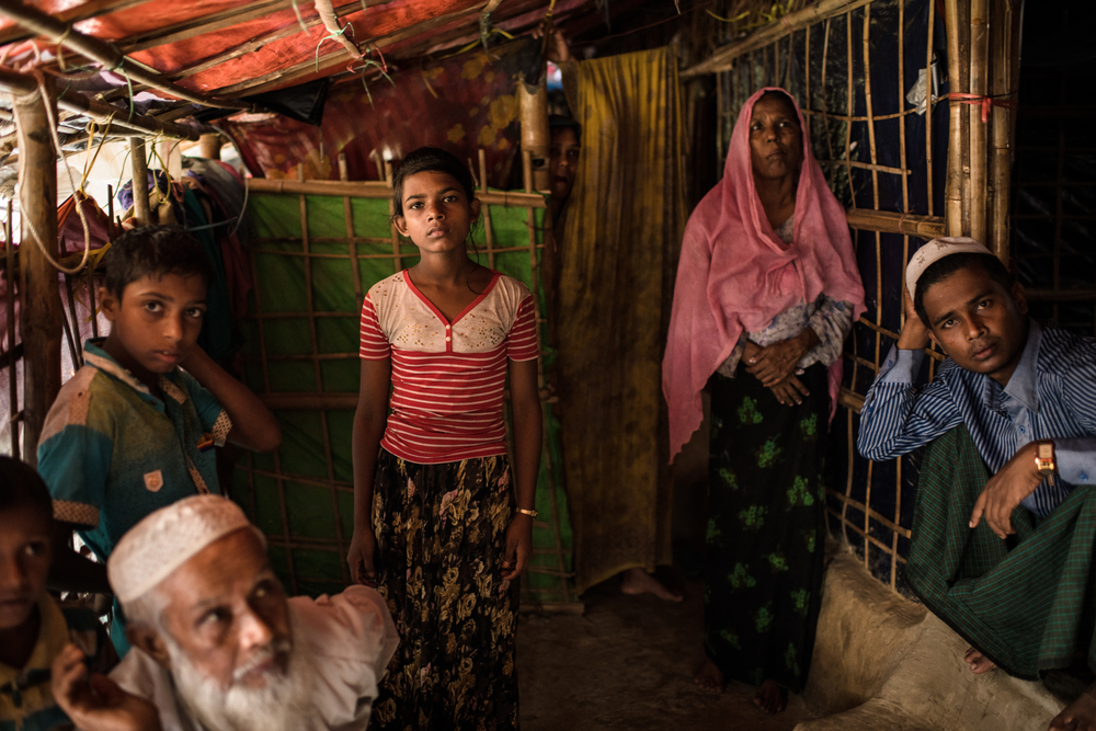
[[347, 560], [402, 638], [370, 728], [516, 729], [514, 580], [532, 552], [540, 462], [533, 296], [469, 259], [480, 202], [457, 158], [419, 148], [393, 189], [396, 228], [421, 259], [362, 307]]

